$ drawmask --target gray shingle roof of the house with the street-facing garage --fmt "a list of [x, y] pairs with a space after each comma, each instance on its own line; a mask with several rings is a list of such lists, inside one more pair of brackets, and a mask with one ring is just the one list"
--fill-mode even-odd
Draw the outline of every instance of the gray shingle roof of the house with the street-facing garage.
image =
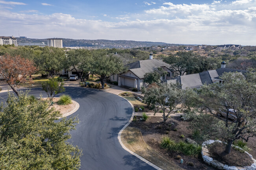
[[126, 66], [128, 66], [128, 69], [140, 79], [143, 79], [146, 73], [158, 70], [158, 67], [165, 66], [168, 69], [170, 68], [170, 65], [157, 59], [140, 60]]

